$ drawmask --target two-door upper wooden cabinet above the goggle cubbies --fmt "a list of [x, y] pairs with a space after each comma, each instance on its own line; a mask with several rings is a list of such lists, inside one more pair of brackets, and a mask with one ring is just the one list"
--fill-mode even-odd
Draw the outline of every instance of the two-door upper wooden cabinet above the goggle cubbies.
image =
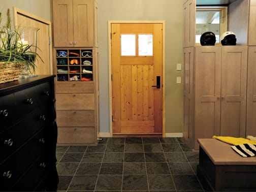
[[52, 0], [54, 47], [97, 46], [97, 2]]

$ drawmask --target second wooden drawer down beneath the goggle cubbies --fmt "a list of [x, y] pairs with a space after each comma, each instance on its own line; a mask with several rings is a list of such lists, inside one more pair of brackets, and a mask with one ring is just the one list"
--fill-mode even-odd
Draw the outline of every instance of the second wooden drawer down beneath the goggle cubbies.
[[94, 110], [94, 94], [57, 93], [56, 110]]

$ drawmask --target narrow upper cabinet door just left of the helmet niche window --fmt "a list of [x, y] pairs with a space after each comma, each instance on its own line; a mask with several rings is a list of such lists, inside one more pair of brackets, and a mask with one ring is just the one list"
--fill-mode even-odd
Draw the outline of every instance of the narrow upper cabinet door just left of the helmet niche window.
[[183, 47], [195, 46], [196, 0], [188, 0], [183, 5]]

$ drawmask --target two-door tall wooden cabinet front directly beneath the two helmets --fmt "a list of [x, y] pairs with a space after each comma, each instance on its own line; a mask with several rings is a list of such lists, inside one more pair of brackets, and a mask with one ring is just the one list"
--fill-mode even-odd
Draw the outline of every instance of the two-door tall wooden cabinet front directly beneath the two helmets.
[[247, 46], [195, 50], [195, 138], [245, 137]]

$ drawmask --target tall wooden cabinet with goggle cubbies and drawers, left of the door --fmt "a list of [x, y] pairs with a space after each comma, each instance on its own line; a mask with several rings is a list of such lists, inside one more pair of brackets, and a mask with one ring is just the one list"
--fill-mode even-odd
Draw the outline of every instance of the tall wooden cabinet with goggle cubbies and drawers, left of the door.
[[97, 2], [52, 0], [58, 145], [96, 145], [99, 132]]

